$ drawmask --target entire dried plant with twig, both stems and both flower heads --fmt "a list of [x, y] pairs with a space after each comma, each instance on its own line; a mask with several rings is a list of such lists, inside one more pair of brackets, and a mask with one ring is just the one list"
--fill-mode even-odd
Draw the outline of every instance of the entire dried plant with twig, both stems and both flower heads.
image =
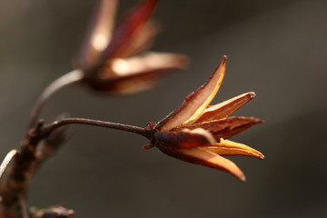
[[[263, 120], [254, 117], [228, 117], [248, 101], [254, 93], [238, 95], [221, 104], [209, 105], [225, 74], [226, 56], [209, 80], [186, 96], [173, 113], [158, 123], [145, 127], [116, 124], [60, 115], [50, 124], [39, 119], [45, 102], [66, 85], [84, 84], [91, 90], [110, 94], [135, 94], [154, 85], [163, 74], [183, 69], [187, 58], [182, 54], [144, 52], [156, 34], [149, 20], [156, 0], [144, 0], [136, 5], [114, 29], [116, 0], [100, 0], [95, 6], [92, 22], [76, 58], [76, 69], [64, 74], [40, 95], [32, 110], [29, 127], [18, 150], [5, 156], [0, 166], [0, 217], [72, 217], [74, 211], [54, 205], [37, 210], [28, 208], [27, 193], [31, 177], [42, 163], [64, 142], [69, 124], [87, 124], [118, 129], [143, 135], [164, 154], [189, 162], [232, 173], [245, 181], [243, 172], [223, 155], [245, 155], [263, 159], [253, 148], [229, 141]], [[143, 52], [143, 54], [140, 54]]]

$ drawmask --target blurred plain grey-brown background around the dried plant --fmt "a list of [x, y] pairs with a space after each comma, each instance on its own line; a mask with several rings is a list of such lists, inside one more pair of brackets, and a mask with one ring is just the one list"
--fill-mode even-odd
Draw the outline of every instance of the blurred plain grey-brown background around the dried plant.
[[[120, 1], [119, 14], [138, 1]], [[0, 154], [19, 145], [38, 94], [71, 63], [93, 0], [0, 2]], [[327, 1], [203, 0], [159, 3], [162, 27], [152, 50], [192, 63], [151, 91], [104, 96], [72, 86], [42, 117], [57, 114], [144, 126], [203, 84], [223, 54], [223, 85], [213, 103], [254, 91], [236, 115], [265, 120], [236, 142], [263, 161], [231, 157], [246, 174], [183, 163], [134, 134], [71, 126], [61, 150], [36, 174], [29, 203], [63, 203], [76, 217], [327, 217]]]

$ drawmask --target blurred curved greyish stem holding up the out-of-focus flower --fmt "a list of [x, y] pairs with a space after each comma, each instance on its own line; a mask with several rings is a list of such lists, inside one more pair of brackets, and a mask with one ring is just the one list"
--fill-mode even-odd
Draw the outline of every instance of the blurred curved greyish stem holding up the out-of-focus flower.
[[32, 110], [28, 129], [33, 128], [35, 126], [37, 119], [38, 119], [39, 115], [41, 114], [41, 111], [50, 96], [52, 96], [58, 90], [62, 89], [64, 86], [66, 86], [68, 84], [74, 84], [76, 82], [79, 82], [83, 78], [84, 78], [83, 72], [79, 69], [76, 69], [67, 74], [60, 76], [58, 79], [54, 80], [54, 82], [52, 84], [49, 84], [49, 86], [47, 86], [45, 88], [45, 91], [38, 98], [38, 100]]

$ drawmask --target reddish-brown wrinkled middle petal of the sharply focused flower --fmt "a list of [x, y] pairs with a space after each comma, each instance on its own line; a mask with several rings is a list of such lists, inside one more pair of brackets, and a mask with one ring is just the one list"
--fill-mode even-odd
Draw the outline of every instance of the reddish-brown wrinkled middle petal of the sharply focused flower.
[[263, 120], [255, 117], [233, 116], [217, 121], [193, 124], [187, 128], [203, 128], [212, 133], [214, 138], [218, 141], [220, 138], [227, 139], [232, 137], [234, 134], [240, 134], [251, 128], [254, 124], [262, 123]]

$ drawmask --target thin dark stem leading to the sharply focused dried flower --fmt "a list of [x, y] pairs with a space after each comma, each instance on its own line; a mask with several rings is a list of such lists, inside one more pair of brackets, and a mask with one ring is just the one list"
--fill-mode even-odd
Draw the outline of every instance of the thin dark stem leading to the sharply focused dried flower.
[[58, 121], [54, 121], [52, 124], [45, 125], [42, 129], [42, 134], [51, 134], [55, 129], [66, 125], [66, 124], [86, 124], [86, 125], [94, 125], [100, 126], [104, 128], [111, 128], [117, 130], [123, 130], [126, 132], [134, 133], [134, 134], [141, 134], [144, 137], [151, 139], [152, 138], [152, 130], [129, 125], [129, 124], [117, 124], [111, 123], [106, 121], [99, 121], [99, 120], [92, 120], [92, 119], [84, 119], [84, 118], [64, 118]]

